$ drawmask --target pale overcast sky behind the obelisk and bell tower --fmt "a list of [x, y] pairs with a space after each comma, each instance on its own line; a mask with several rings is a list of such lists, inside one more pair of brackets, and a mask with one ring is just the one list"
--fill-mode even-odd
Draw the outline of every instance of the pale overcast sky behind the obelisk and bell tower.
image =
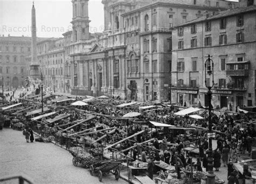
[[[32, 0], [0, 0], [0, 35], [31, 36]], [[35, 0], [37, 37], [62, 37], [72, 29], [71, 0]], [[101, 0], [89, 1], [90, 32], [102, 32]]]

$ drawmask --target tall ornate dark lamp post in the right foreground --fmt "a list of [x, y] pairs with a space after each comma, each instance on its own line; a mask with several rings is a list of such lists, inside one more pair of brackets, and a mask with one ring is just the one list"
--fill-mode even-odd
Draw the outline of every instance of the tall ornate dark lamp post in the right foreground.
[[[207, 72], [207, 74], [206, 74]], [[206, 75], [209, 77], [212, 76], [212, 85], [207, 84]], [[214, 85], [214, 74], [213, 74], [213, 60], [211, 59], [210, 54], [208, 54], [208, 58], [205, 61], [205, 86], [208, 88], [208, 106], [209, 106], [209, 119], [208, 119], [208, 128], [209, 133], [212, 133], [212, 115], [211, 115], [211, 100], [212, 100], [212, 92], [211, 88]], [[209, 151], [208, 151], [208, 173], [207, 173], [207, 184], [215, 183], [215, 174], [213, 172], [213, 157], [212, 157], [212, 138], [209, 136]]]

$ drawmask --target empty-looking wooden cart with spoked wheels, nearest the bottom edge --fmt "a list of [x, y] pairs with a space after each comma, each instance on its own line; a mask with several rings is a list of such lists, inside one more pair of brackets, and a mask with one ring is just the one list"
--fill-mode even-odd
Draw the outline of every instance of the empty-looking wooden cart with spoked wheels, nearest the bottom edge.
[[122, 163], [120, 160], [104, 160], [98, 163], [95, 163], [90, 166], [91, 175], [98, 173], [99, 181], [102, 181], [103, 174], [114, 174], [116, 180], [120, 177], [119, 165]]

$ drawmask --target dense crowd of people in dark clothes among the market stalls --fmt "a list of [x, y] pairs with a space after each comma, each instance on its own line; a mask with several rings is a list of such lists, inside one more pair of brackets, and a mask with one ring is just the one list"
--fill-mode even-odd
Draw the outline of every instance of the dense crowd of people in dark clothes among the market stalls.
[[[18, 101], [12, 102], [17, 103]], [[61, 108], [58, 104], [51, 104], [49, 107], [54, 108], [57, 113], [55, 115], [70, 113], [71, 116], [67, 121], [73, 122], [78, 119], [86, 118], [86, 114], [93, 114], [95, 119], [87, 122], [88, 127], [101, 126], [97, 130], [104, 128], [116, 127], [116, 131], [112, 135], [107, 135], [106, 142], [113, 144], [119, 140], [127, 138], [137, 132], [147, 129], [142, 134], [124, 141], [119, 145], [119, 150], [124, 150], [131, 146], [137, 145], [132, 149], [132, 158], [134, 160], [140, 159], [144, 162], [147, 161], [149, 156], [148, 172], [149, 177], [153, 178], [154, 162], [163, 160], [167, 164], [176, 167], [178, 178], [180, 178], [180, 169], [186, 168], [191, 164], [197, 171], [203, 171], [203, 168], [208, 168], [208, 113], [207, 110], [200, 112], [201, 117], [204, 119], [193, 119], [185, 115], [185, 117], [174, 115], [177, 111], [176, 107], [168, 107], [165, 105], [158, 105], [156, 108], [150, 110], [141, 110], [139, 107], [147, 104], [135, 104], [132, 107], [119, 108], [117, 105], [124, 103], [120, 100], [93, 100], [87, 102], [89, 105], [70, 108]], [[27, 105], [29, 106], [29, 105]], [[39, 106], [35, 109], [40, 108]], [[139, 112], [141, 115], [134, 119], [123, 119], [123, 115], [129, 112]], [[15, 117], [17, 118], [17, 117]], [[51, 117], [50, 117], [51, 118]], [[53, 118], [53, 117], [52, 117]], [[24, 119], [29, 124], [29, 119]], [[44, 119], [43, 119], [44, 120]], [[178, 127], [199, 127], [191, 131], [177, 130], [168, 132], [166, 128], [157, 131], [150, 125], [149, 121], [161, 122], [164, 124], [174, 125]], [[253, 138], [255, 137], [255, 130], [253, 120], [245, 115], [235, 115], [224, 112], [218, 116], [212, 113], [212, 129], [216, 132], [215, 139], [217, 140], [217, 147], [213, 151], [213, 166], [215, 171], [218, 172], [221, 165], [227, 167], [228, 183], [234, 183], [237, 179], [237, 173], [232, 167], [232, 163], [238, 161], [238, 155], [248, 154], [251, 155]], [[240, 122], [240, 123], [237, 123]], [[57, 121], [53, 124], [48, 124], [49, 127], [54, 127], [64, 124], [62, 121]], [[69, 125], [66, 125], [68, 127]], [[66, 128], [65, 126], [62, 128]], [[32, 127], [26, 127], [25, 138], [26, 141], [32, 142], [33, 133]], [[152, 129], [153, 128], [153, 129]], [[72, 128], [73, 132], [82, 131], [82, 125]], [[183, 136], [180, 136], [183, 134]], [[94, 139], [101, 137], [102, 134], [94, 135]], [[154, 139], [149, 144], [142, 145], [140, 143]], [[185, 153], [184, 148], [186, 143], [195, 142], [199, 148], [199, 156], [196, 161], [193, 161], [192, 154]], [[124, 152], [129, 155], [129, 151]], [[139, 156], [141, 155], [141, 156]], [[245, 178], [251, 176], [249, 169], [244, 171], [239, 177]]]

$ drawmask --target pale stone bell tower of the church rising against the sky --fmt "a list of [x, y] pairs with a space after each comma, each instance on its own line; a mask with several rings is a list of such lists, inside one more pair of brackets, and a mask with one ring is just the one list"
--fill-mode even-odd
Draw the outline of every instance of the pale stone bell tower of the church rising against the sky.
[[72, 0], [73, 4], [73, 43], [78, 40], [85, 40], [90, 38], [89, 20], [88, 16], [88, 1], [89, 0]]

